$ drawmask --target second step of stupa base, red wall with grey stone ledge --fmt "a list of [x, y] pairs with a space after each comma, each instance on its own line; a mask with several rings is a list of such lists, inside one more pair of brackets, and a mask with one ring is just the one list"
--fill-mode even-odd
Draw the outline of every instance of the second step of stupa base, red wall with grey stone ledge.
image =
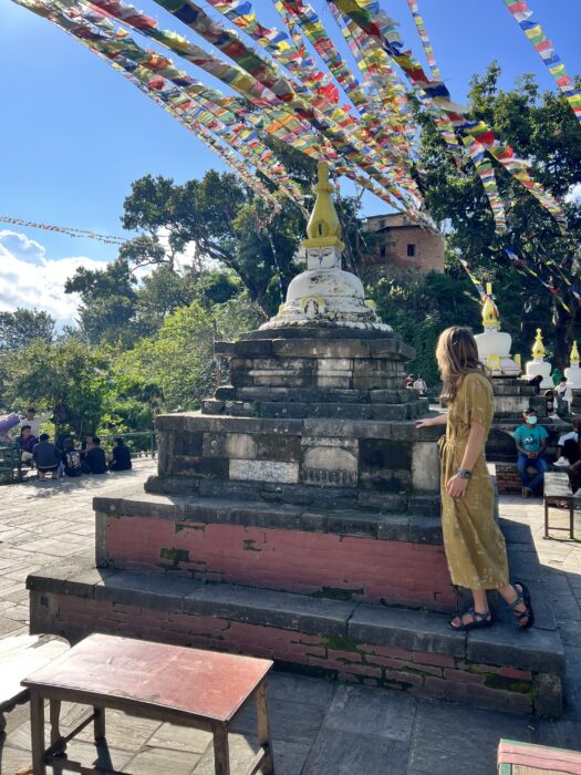
[[436, 516], [176, 496], [95, 498], [94, 507], [100, 567], [455, 608]]

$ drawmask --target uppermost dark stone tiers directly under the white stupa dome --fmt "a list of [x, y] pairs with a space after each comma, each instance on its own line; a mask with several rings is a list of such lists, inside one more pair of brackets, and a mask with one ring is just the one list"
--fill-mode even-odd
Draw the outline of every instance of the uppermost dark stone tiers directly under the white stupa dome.
[[[256, 334], [257, 332], [255, 332]], [[257, 417], [412, 420], [428, 409], [417, 391], [402, 386], [412, 348], [395, 334], [301, 329], [249, 334], [218, 342], [229, 356], [230, 383], [204, 401], [206, 414]], [[333, 338], [331, 338], [333, 337]]]

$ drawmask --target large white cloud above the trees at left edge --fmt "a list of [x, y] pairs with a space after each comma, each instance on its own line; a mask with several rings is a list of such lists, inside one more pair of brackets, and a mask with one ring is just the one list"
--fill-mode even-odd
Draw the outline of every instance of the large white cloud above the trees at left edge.
[[106, 261], [83, 256], [54, 260], [40, 242], [8, 229], [0, 230], [0, 310], [18, 307], [45, 310], [59, 328], [76, 318], [79, 296], [65, 293], [64, 283], [75, 269], [104, 269]]

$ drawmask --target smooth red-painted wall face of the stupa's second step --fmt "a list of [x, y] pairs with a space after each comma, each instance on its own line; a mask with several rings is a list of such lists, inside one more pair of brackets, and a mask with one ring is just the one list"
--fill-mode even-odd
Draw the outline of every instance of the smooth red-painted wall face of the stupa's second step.
[[101, 514], [101, 565], [454, 611], [442, 546]]

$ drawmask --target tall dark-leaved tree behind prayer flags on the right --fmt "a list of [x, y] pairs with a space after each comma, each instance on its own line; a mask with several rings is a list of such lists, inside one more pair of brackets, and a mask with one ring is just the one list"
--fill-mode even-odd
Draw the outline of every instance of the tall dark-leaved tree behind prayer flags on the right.
[[[498, 86], [499, 75], [499, 66], [492, 64], [484, 75], [473, 79], [469, 117], [486, 121], [521, 158], [531, 162], [535, 179], [562, 204], [567, 235], [560, 234], [549, 213], [496, 162], [500, 196], [511, 205], [507, 208], [507, 232], [495, 234], [488, 199], [474, 166], [468, 159], [460, 169], [455, 166], [427, 118], [422, 120], [423, 173], [417, 174], [417, 180], [430, 215], [449, 226], [449, 255], [466, 258], [483, 279], [495, 281], [502, 318], [520, 334], [520, 349], [530, 348], [532, 330], [541, 324], [554, 353], [554, 365], [563, 368], [575, 324], [581, 323], [579, 304], [568, 285], [580, 268], [581, 205], [566, 202], [571, 187], [581, 182], [579, 122], [561, 95], [541, 93], [532, 76], [525, 75], [505, 92]], [[504, 252], [505, 247], [526, 257], [533, 271], [554, 287], [571, 312], [535, 277], [517, 272]]]

